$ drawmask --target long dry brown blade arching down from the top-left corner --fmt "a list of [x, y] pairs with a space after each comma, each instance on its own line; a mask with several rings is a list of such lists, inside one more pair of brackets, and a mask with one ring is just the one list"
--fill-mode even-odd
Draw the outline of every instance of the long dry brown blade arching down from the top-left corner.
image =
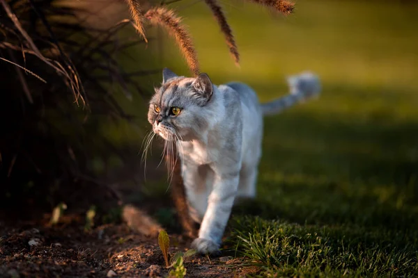
[[[46, 63], [50, 67], [53, 67], [54, 70], [56, 70], [60, 74], [63, 74], [63, 76], [65, 76], [65, 78], [68, 79], [68, 81], [70, 81], [72, 91], [74, 92], [74, 95], [75, 95], [75, 102], [77, 104], [78, 104], [79, 99], [82, 100], [83, 104], [86, 104], [86, 101], [84, 100], [84, 97], [80, 94], [80, 90], [83, 90], [83, 89], [82, 89], [81, 84], [79, 84], [79, 81], [77, 79], [77, 75], [75, 75], [74, 76], [75, 78], [73, 79], [70, 76], [70, 74], [68, 74], [68, 72], [65, 71], [65, 69], [63, 68], [63, 66], [60, 63], [55, 61], [56, 65], [54, 65], [53, 63], [49, 62], [49, 60], [47, 58], [45, 58], [45, 56], [43, 56], [40, 53], [38, 47], [36, 47], [36, 44], [33, 42], [33, 40], [28, 35], [28, 33], [26, 33], [26, 31], [24, 31], [24, 28], [22, 27], [22, 24], [20, 24], [19, 19], [17, 19], [16, 15], [12, 12], [10, 6], [8, 5], [8, 3], [6, 3], [6, 0], [0, 0], [0, 3], [3, 6], [4, 10], [6, 10], [6, 13], [7, 13], [8, 17], [12, 20], [13, 24], [15, 24], [17, 30], [20, 31], [20, 33], [25, 38], [26, 42], [29, 44], [29, 46], [33, 50], [33, 54], [35, 56], [37, 56], [38, 58], [40, 58], [40, 60], [42, 60], [44, 63]], [[72, 69], [70, 69], [70, 70], [74, 74], [74, 71]]]

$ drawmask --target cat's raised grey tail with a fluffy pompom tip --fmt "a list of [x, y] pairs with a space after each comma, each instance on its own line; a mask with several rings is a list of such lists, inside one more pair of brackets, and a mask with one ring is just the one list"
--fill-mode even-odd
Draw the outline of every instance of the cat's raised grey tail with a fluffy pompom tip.
[[284, 111], [299, 102], [317, 97], [320, 92], [320, 81], [318, 76], [311, 72], [304, 72], [299, 75], [289, 76], [288, 85], [290, 93], [274, 101], [261, 104], [263, 115], [274, 115]]

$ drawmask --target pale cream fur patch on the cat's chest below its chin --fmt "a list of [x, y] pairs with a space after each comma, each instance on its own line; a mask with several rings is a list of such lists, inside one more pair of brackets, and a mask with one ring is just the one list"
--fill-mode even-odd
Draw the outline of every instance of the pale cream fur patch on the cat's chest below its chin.
[[216, 150], [211, 150], [201, 142], [183, 142], [179, 151], [183, 152], [180, 155], [185, 158], [185, 161], [196, 163], [196, 165], [212, 163], [217, 158]]

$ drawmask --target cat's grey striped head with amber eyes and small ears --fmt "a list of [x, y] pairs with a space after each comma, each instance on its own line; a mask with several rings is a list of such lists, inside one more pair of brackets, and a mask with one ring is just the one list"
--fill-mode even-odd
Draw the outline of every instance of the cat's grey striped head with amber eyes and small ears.
[[165, 140], [190, 140], [208, 126], [205, 106], [210, 104], [214, 87], [208, 74], [196, 78], [177, 76], [165, 68], [162, 85], [150, 100], [148, 122]]

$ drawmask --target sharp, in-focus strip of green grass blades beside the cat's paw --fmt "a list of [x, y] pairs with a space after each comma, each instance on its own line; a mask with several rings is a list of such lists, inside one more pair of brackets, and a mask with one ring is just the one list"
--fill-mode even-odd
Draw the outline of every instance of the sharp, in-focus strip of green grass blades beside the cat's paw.
[[361, 225], [235, 220], [232, 237], [262, 276], [415, 276], [417, 234]]

